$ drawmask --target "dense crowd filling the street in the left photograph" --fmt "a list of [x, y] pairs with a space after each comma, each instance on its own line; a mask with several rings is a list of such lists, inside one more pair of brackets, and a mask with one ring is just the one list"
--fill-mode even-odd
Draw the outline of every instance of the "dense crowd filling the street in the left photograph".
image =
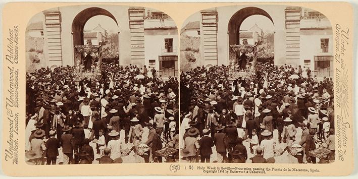
[[108, 63], [98, 79], [76, 81], [74, 70], [26, 73], [28, 163], [175, 161], [178, 154], [163, 160], [157, 151], [179, 150], [177, 78]]

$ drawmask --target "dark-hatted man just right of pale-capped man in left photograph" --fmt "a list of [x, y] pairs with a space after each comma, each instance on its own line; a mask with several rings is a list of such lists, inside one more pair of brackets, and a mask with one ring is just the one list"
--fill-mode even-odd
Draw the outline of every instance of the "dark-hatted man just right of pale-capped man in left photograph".
[[73, 148], [74, 143], [72, 141], [72, 134], [70, 134], [72, 127], [65, 126], [62, 131], [64, 132], [61, 135], [61, 146], [62, 152], [64, 153], [64, 164], [73, 164]]

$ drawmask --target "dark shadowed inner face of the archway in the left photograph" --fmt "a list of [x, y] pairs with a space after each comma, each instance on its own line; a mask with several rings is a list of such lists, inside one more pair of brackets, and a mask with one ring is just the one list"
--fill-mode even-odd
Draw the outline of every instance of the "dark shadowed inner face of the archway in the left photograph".
[[[84, 45], [84, 42], [83, 42], [84, 25], [90, 18], [92, 18], [94, 16], [98, 16], [98, 15], [108, 16], [108, 17], [112, 18], [118, 26], [118, 22], [117, 22], [116, 18], [109, 11], [107, 11], [103, 8], [96, 8], [96, 7], [87, 8], [87, 9], [81, 11], [80, 13], [78, 13], [77, 16], [73, 19], [73, 22], [72, 22], [73, 48], [76, 45]], [[75, 50], [73, 50], [73, 51], [75, 51]], [[74, 52], [73, 56], [74, 56], [74, 64], [77, 65], [76, 63], [77, 63], [78, 59], [81, 58], [81, 56], [76, 55], [75, 52]]]

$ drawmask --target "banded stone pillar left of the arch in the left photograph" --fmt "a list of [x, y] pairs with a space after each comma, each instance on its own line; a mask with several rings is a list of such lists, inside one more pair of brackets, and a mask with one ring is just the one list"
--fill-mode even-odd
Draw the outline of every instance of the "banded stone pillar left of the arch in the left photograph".
[[46, 66], [62, 66], [61, 13], [59, 8], [46, 10], [44, 38]]

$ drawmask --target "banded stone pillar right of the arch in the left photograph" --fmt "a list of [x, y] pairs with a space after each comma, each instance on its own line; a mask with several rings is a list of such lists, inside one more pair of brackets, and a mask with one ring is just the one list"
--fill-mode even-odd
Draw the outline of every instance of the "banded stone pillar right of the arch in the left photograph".
[[144, 55], [144, 8], [129, 8], [129, 29], [130, 29], [130, 49], [131, 63], [142, 67], [145, 64]]

